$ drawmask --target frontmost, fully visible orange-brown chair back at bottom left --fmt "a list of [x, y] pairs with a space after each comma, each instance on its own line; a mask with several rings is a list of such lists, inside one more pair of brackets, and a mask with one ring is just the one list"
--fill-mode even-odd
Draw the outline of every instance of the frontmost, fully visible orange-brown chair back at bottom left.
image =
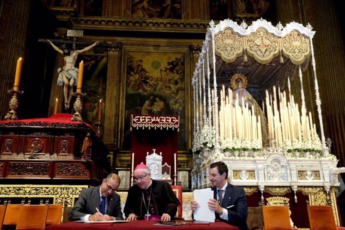
[[48, 205], [21, 205], [16, 230], [45, 229]]

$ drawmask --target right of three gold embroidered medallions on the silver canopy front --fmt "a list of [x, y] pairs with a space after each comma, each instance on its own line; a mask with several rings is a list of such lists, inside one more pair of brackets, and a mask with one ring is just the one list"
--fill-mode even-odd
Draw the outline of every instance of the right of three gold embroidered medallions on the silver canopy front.
[[281, 42], [282, 53], [290, 58], [293, 64], [302, 64], [310, 55], [309, 39], [297, 31], [291, 31], [282, 38]]

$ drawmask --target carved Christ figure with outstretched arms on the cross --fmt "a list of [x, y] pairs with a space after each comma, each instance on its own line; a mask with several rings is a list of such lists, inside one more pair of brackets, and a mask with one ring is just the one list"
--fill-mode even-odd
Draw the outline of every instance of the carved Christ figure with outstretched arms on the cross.
[[80, 49], [80, 50], [70, 50], [67, 44], [63, 44], [61, 49], [54, 45], [50, 40], [46, 40], [56, 51], [63, 55], [64, 66], [58, 68], [58, 78], [57, 84], [63, 84], [63, 96], [64, 96], [64, 109], [69, 108], [69, 103], [72, 98], [73, 92], [73, 85], [76, 85], [77, 77], [78, 77], [78, 68], [75, 67], [76, 58], [79, 53], [85, 52], [90, 50], [93, 46], [99, 44], [98, 41], [94, 42], [93, 44]]

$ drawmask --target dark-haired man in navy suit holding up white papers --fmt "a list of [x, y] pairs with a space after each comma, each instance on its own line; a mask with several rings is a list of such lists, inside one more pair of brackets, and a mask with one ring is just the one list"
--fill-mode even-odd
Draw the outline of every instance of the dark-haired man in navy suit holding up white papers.
[[[227, 222], [240, 230], [247, 230], [246, 219], [248, 206], [245, 192], [242, 187], [237, 187], [227, 182], [228, 169], [224, 162], [218, 161], [210, 164], [208, 179], [212, 183], [213, 198], [210, 198], [208, 208], [214, 210], [215, 218]], [[195, 211], [198, 203], [191, 201], [191, 210]]]

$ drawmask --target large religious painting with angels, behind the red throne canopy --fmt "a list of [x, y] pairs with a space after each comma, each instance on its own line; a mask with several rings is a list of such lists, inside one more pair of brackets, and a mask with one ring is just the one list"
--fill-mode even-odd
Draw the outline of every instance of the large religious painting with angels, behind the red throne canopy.
[[124, 48], [121, 149], [130, 149], [130, 115], [179, 115], [178, 150], [186, 150], [187, 48]]

